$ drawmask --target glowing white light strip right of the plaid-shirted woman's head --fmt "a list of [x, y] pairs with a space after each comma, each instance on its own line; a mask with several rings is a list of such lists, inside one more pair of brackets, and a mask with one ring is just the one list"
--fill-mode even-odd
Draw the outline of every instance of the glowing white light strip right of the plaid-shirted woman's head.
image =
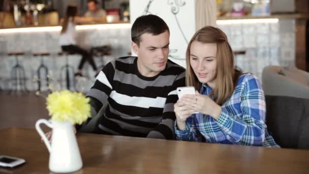
[[278, 23], [279, 19], [269, 18], [269, 19], [230, 19], [230, 20], [217, 20], [218, 25], [227, 24], [240, 24], [240, 23]]

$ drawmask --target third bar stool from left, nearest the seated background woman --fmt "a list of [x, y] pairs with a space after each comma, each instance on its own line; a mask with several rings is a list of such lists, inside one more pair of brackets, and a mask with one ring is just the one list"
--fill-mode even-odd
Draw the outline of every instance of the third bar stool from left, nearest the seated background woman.
[[[75, 86], [75, 78], [74, 78], [74, 67], [72, 65], [69, 64], [69, 55], [72, 55], [72, 53], [67, 52], [67, 51], [61, 51], [58, 52], [58, 55], [65, 55], [66, 57], [66, 64], [64, 66], [61, 67], [60, 69], [60, 79], [64, 79], [62, 78], [62, 74], [65, 72], [66, 74], [66, 86], [67, 89], [70, 90], [71, 87], [71, 81], [70, 81], [70, 74], [72, 74], [72, 83], [73, 83], [73, 87]], [[71, 72], [71, 73], [70, 73]], [[61, 83], [63, 84], [63, 83]]]

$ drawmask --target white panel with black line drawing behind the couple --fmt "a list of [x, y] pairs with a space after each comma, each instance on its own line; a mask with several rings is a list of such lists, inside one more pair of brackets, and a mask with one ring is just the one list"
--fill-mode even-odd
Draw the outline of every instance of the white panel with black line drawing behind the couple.
[[195, 33], [195, 1], [193, 0], [130, 0], [131, 24], [141, 15], [160, 16], [170, 28], [169, 59], [186, 66], [188, 42]]

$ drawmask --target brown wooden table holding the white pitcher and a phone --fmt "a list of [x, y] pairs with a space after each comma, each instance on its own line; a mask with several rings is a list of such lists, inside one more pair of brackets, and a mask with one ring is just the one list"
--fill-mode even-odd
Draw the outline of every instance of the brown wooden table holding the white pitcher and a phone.
[[[0, 173], [52, 173], [35, 129], [0, 130], [0, 154], [26, 163]], [[78, 133], [74, 173], [309, 173], [309, 151]]]

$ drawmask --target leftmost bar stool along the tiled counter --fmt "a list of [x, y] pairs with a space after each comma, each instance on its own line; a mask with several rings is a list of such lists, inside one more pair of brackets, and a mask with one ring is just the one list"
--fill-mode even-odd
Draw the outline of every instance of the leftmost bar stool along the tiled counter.
[[[11, 80], [14, 80], [15, 83], [12, 83], [15, 85], [15, 91], [18, 91], [18, 87], [20, 86], [20, 91], [27, 92], [26, 88], [26, 77], [25, 77], [25, 69], [21, 64], [19, 64], [18, 56], [24, 55], [24, 52], [8, 52], [9, 56], [15, 55], [15, 66], [11, 69]], [[13, 92], [14, 89], [12, 88], [10, 92]]]

